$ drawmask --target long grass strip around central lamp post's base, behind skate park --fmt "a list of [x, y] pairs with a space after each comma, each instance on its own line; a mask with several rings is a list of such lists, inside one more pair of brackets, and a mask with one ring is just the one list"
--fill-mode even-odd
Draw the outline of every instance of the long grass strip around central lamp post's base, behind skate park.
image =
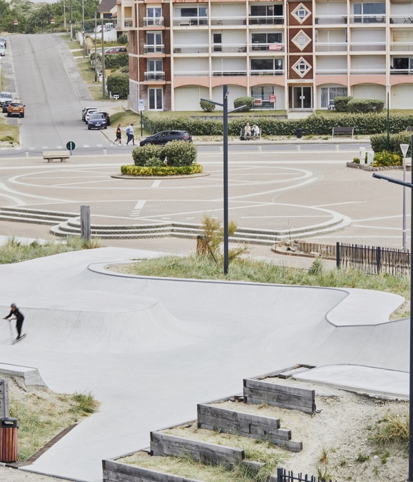
[[396, 293], [410, 299], [409, 277], [388, 274], [369, 275], [351, 269], [323, 269], [317, 264], [308, 269], [276, 266], [269, 262], [249, 258], [236, 258], [224, 275], [222, 263], [215, 263], [205, 256], [162, 256], [151, 260], [139, 260], [132, 264], [109, 266], [112, 271], [142, 276], [193, 278], [195, 280], [228, 280], [254, 283], [293, 284], [337, 288], [360, 288]]

